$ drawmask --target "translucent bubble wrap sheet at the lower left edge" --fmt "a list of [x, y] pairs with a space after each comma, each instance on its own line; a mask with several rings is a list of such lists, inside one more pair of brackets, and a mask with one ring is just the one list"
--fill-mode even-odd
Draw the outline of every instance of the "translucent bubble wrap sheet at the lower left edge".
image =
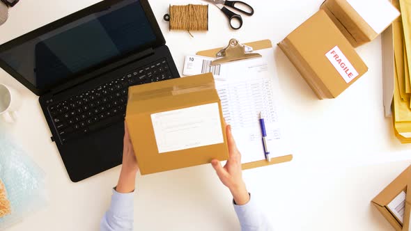
[[11, 205], [11, 214], [0, 218], [0, 230], [15, 225], [45, 205], [45, 174], [9, 136], [0, 122], [0, 179]]

